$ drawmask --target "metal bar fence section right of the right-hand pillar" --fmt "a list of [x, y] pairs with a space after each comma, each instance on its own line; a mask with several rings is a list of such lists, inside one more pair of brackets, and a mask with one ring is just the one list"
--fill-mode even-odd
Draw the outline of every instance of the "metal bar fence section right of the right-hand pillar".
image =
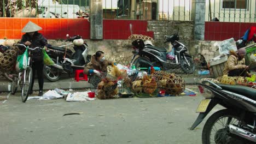
[[206, 21], [256, 22], [255, 0], [206, 1]]

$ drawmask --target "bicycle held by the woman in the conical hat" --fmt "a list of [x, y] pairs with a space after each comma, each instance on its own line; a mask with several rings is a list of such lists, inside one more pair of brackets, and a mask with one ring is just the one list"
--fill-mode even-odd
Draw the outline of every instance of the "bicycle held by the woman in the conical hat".
[[17, 46], [24, 46], [28, 49], [28, 61], [27, 67], [21, 71], [18, 75], [13, 75], [13, 81], [11, 82], [11, 94], [15, 94], [18, 86], [21, 88], [21, 100], [22, 102], [26, 102], [28, 95], [30, 94], [31, 87], [32, 87], [32, 68], [31, 68], [31, 57], [30, 57], [30, 50], [42, 49], [40, 47], [30, 48], [23, 44], [16, 44]]

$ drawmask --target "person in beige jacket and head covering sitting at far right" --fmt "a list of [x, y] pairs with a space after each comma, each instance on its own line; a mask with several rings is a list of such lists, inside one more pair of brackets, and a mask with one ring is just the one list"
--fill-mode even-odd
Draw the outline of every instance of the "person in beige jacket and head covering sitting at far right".
[[245, 65], [245, 55], [245, 48], [241, 48], [237, 52], [231, 50], [228, 61], [225, 63], [223, 74], [228, 76], [251, 77], [251, 74], [247, 72], [248, 66]]

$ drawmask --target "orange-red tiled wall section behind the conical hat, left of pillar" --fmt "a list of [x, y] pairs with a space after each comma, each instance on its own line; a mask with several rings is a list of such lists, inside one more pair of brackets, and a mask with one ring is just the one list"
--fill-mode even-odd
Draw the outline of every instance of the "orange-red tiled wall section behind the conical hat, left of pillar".
[[79, 33], [85, 39], [89, 38], [90, 23], [84, 19], [37, 19], [37, 18], [1, 18], [0, 39], [21, 39], [21, 29], [32, 21], [42, 27], [39, 31], [47, 39], [65, 39], [66, 34]]

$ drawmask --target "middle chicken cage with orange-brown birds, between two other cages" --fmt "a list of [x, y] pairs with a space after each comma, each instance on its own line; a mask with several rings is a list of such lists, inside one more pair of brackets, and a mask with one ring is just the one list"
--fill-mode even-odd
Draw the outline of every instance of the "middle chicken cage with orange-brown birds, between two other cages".
[[142, 79], [137, 79], [132, 82], [132, 91], [137, 94], [138, 97], [153, 97], [158, 88], [158, 83], [151, 75], [144, 75]]

